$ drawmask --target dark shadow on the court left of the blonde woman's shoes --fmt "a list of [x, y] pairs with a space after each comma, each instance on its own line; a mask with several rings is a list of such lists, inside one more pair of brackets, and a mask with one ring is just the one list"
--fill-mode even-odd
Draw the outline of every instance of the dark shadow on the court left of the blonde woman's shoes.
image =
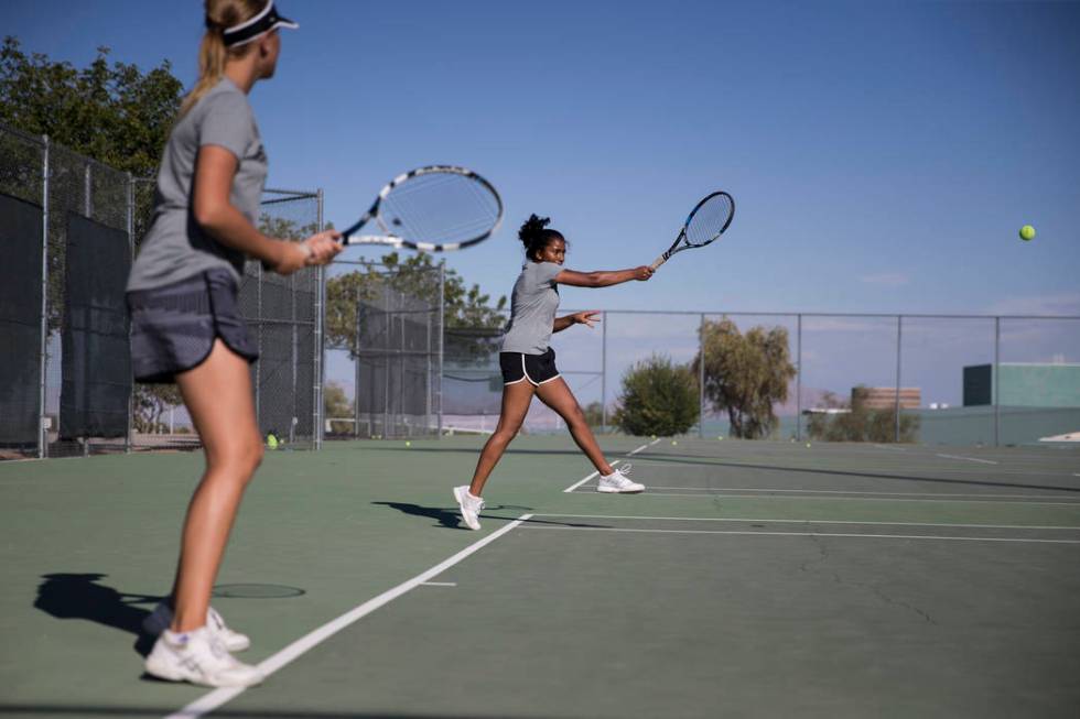
[[99, 584], [104, 574], [46, 574], [37, 587], [34, 608], [56, 619], [85, 619], [136, 636], [134, 650], [145, 656], [154, 638], [142, 631], [150, 611], [133, 604], [154, 606], [163, 599], [153, 595], [129, 595]]

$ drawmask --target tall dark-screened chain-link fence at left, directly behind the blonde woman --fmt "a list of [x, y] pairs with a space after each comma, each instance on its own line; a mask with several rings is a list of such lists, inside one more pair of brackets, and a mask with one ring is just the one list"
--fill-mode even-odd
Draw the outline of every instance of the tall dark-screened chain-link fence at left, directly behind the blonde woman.
[[[172, 385], [133, 384], [125, 285], [149, 229], [154, 183], [0, 124], [0, 456], [63, 457], [197, 446]], [[267, 190], [268, 233], [322, 227], [321, 193]], [[248, 263], [241, 312], [261, 359], [259, 425], [320, 440], [321, 270]]]

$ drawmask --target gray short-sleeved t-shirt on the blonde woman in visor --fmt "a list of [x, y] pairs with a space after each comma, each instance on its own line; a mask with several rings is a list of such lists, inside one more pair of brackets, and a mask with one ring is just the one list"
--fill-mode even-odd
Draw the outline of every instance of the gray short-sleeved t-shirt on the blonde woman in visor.
[[173, 128], [158, 171], [154, 216], [128, 277], [128, 290], [151, 290], [225, 268], [237, 281], [244, 253], [209, 237], [192, 215], [195, 159], [204, 145], [237, 159], [229, 201], [252, 224], [267, 179], [267, 154], [247, 95], [222, 78]]

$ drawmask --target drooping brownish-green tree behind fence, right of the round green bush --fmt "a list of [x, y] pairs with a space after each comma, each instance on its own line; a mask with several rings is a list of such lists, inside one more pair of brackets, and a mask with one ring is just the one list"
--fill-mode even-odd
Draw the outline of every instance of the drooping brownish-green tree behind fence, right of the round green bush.
[[[699, 330], [705, 352], [705, 397], [715, 411], [726, 411], [733, 437], [768, 437], [779, 421], [773, 406], [788, 399], [796, 375], [784, 327], [753, 327], [745, 335], [734, 322], [705, 322]], [[701, 352], [691, 362], [701, 371]]]

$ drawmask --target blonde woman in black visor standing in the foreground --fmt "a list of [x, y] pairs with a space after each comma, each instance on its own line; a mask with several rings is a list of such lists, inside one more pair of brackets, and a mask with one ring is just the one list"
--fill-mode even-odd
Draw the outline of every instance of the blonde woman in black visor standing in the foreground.
[[278, 29], [296, 26], [272, 1], [206, 0], [199, 79], [165, 145], [153, 224], [128, 281], [136, 379], [180, 385], [206, 453], [172, 591], [143, 623], [158, 635], [147, 672], [173, 682], [249, 686], [262, 678], [233, 657], [250, 642], [225, 625], [209, 599], [240, 498], [262, 459], [248, 370], [257, 351], [237, 307], [245, 258], [290, 274], [341, 250], [335, 231], [289, 242], [255, 226], [267, 156], [247, 94], [273, 76]]

